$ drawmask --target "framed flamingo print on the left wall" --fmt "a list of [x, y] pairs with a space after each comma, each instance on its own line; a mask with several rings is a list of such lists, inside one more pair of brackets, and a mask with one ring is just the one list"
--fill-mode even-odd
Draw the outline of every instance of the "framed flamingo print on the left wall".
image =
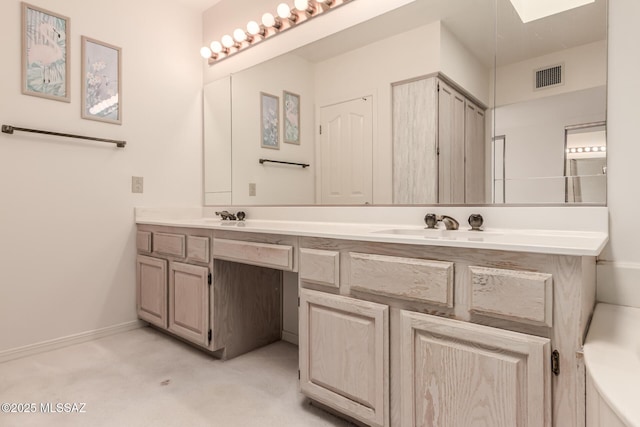
[[22, 93], [70, 102], [66, 16], [22, 2]]

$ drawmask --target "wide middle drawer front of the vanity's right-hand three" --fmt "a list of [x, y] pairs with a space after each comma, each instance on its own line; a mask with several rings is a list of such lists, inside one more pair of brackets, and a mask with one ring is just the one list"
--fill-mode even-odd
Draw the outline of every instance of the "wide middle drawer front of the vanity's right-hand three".
[[453, 307], [453, 263], [350, 252], [351, 289]]

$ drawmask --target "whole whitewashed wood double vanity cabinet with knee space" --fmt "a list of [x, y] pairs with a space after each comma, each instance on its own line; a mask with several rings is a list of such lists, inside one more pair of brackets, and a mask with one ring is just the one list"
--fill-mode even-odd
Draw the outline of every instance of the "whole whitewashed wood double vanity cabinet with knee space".
[[300, 389], [322, 406], [370, 426], [585, 425], [595, 256], [207, 224], [139, 222], [141, 319], [233, 357], [280, 339], [297, 272]]

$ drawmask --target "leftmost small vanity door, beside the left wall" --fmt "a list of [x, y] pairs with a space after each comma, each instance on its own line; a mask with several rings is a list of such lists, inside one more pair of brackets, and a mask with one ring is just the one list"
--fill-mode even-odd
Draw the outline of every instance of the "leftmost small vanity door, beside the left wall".
[[167, 261], [138, 255], [136, 306], [140, 319], [167, 327]]

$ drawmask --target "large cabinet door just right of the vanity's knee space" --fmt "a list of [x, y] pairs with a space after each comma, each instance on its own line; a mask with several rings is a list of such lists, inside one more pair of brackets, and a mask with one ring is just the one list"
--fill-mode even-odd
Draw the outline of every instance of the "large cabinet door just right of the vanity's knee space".
[[300, 388], [371, 426], [389, 425], [386, 305], [300, 290]]

